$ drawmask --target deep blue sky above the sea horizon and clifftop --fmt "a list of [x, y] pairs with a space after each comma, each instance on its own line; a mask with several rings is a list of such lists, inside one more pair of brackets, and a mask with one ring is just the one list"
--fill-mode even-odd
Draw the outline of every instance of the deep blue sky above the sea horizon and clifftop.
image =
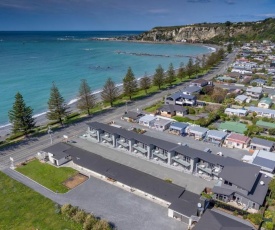
[[275, 0], [0, 0], [0, 31], [142, 31], [268, 17]]

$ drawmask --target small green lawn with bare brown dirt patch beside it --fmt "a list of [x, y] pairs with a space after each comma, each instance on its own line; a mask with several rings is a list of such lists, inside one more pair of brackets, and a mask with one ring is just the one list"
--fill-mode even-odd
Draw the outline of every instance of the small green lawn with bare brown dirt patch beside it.
[[69, 191], [62, 182], [77, 173], [76, 170], [68, 167], [56, 168], [39, 160], [30, 161], [27, 165], [19, 166], [16, 171], [37, 181], [54, 192], [65, 193]]

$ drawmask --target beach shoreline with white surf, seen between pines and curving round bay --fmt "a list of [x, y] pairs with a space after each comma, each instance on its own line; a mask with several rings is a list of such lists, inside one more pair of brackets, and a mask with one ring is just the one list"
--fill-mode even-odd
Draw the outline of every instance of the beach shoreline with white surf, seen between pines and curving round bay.
[[[100, 40], [100, 39], [98, 39]], [[201, 43], [182, 43], [182, 42], [151, 42], [151, 41], [139, 41], [139, 40], [115, 40], [115, 39], [102, 39], [100, 41], [115, 41], [115, 42], [136, 42], [136, 43], [154, 43], [154, 44], [182, 44], [182, 45], [196, 45], [196, 46], [204, 46], [210, 50], [210, 52], [206, 54], [199, 54], [194, 56], [194, 58], [202, 57], [203, 55], [210, 55], [213, 52], [216, 52], [219, 46], [216, 45], [208, 45], [208, 44], [201, 44]], [[174, 69], [177, 71], [179, 68]], [[164, 71], [166, 73], [167, 70]], [[152, 78], [154, 75], [149, 75], [148, 77]], [[139, 81], [143, 76], [136, 77], [136, 80]], [[116, 86], [119, 88], [119, 91], [122, 90], [123, 83], [118, 83]], [[92, 94], [96, 96], [97, 103], [101, 102], [100, 93], [102, 92], [102, 89], [98, 89]], [[78, 112], [79, 110], [76, 108], [76, 103], [78, 99], [74, 98], [67, 102], [67, 105], [69, 106], [70, 112]], [[46, 118], [47, 111], [35, 114], [33, 118], [35, 118], [37, 126], [46, 125], [49, 120]], [[8, 135], [11, 133], [11, 123], [0, 125], [0, 141], [3, 141], [6, 139]]]

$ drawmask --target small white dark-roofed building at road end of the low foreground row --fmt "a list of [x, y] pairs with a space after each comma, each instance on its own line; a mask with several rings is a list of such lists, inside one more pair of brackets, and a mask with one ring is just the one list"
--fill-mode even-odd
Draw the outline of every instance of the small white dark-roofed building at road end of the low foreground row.
[[51, 145], [50, 147], [43, 149], [40, 154], [43, 153], [44, 158], [48, 157], [52, 164], [60, 166], [71, 160], [70, 154], [67, 153], [67, 150], [70, 147], [70, 145], [64, 142], [59, 142], [58, 144]]

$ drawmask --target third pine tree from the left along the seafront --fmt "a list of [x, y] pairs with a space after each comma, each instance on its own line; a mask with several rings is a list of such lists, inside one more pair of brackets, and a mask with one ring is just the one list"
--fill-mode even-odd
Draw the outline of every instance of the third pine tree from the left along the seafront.
[[79, 100], [77, 101], [77, 108], [81, 111], [87, 111], [88, 115], [91, 115], [90, 109], [94, 108], [95, 102], [96, 98], [92, 94], [90, 86], [85, 79], [82, 79], [79, 87]]

